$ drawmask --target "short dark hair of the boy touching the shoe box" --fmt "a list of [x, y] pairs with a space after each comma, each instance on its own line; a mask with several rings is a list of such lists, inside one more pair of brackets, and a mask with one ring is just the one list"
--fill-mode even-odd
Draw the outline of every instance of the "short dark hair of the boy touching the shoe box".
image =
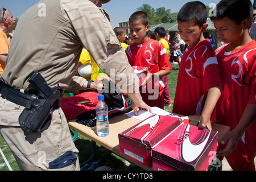
[[201, 28], [207, 22], [207, 8], [200, 1], [185, 3], [177, 15], [177, 21], [192, 22]]

